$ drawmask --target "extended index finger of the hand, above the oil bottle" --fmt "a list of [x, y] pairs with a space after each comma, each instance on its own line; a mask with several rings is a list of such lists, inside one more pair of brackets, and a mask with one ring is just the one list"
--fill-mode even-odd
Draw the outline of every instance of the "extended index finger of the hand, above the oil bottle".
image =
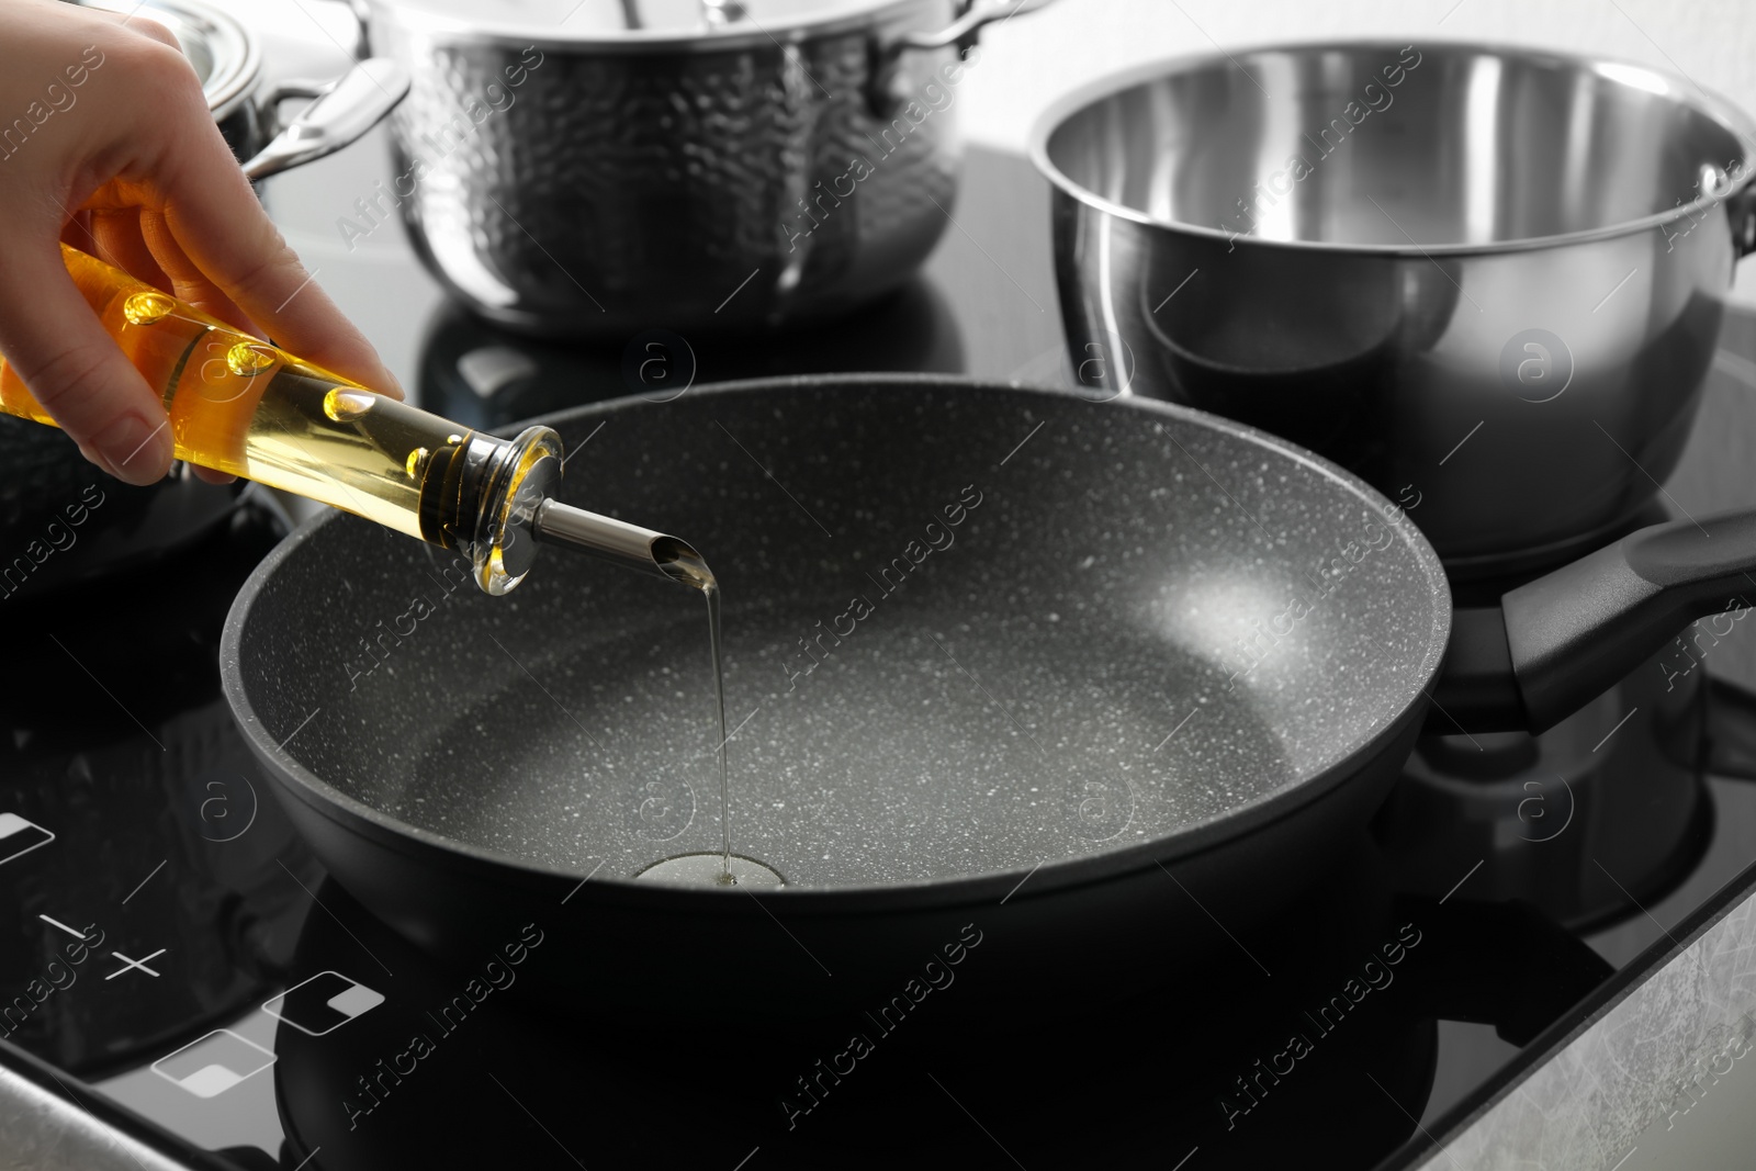
[[[276, 230], [218, 130], [190, 135], [155, 176], [176, 249], [153, 239], [174, 281], [207, 281], [283, 349], [402, 397], [371, 342], [318, 288]], [[181, 260], [190, 269], [179, 272]]]

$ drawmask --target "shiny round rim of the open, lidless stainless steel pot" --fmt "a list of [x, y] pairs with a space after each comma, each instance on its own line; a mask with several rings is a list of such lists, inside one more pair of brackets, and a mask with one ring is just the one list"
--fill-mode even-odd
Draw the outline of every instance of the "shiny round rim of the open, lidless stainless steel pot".
[[[1026, 153], [1031, 163], [1036, 167], [1038, 174], [1048, 179], [1055, 193], [1064, 198], [1071, 198], [1076, 204], [1090, 207], [1092, 211], [1115, 216], [1117, 219], [1126, 219], [1129, 223], [1140, 225], [1143, 228], [1157, 228], [1162, 232], [1178, 232], [1184, 235], [1192, 235], [1206, 241], [1227, 242], [1231, 248], [1259, 248], [1270, 251], [1310, 251], [1317, 255], [1333, 253], [1347, 256], [1385, 256], [1401, 260], [1431, 260], [1435, 256], [1452, 258], [1452, 256], [1498, 256], [1498, 255], [1517, 255], [1517, 253], [1535, 253], [1549, 251], [1558, 248], [1568, 248], [1572, 244], [1589, 244], [1593, 241], [1608, 241], [1624, 235], [1638, 235], [1652, 228], [1659, 228], [1668, 223], [1675, 223], [1682, 218], [1700, 219], [1700, 216], [1717, 204], [1724, 204], [1737, 193], [1756, 183], [1756, 169], [1747, 169], [1742, 177], [1738, 177], [1731, 188], [1723, 195], [1700, 195], [1688, 204], [1677, 204], [1668, 211], [1649, 212], [1635, 219], [1623, 219], [1617, 223], [1601, 225], [1596, 228], [1580, 228], [1575, 232], [1558, 232], [1552, 235], [1531, 235], [1517, 241], [1487, 241], [1487, 242], [1463, 242], [1463, 244], [1350, 244], [1342, 241], [1278, 241], [1264, 239], [1259, 235], [1249, 235], [1243, 232], [1224, 232], [1220, 228], [1208, 228], [1199, 223], [1187, 223], [1180, 219], [1161, 219], [1150, 216], [1136, 207], [1127, 207], [1117, 204], [1098, 191], [1087, 188], [1068, 176], [1061, 167], [1054, 163], [1048, 156], [1048, 140], [1061, 130], [1068, 119], [1075, 114], [1098, 105], [1099, 102], [1117, 97], [1141, 83], [1154, 81], [1159, 77], [1171, 77], [1178, 74], [1191, 72], [1198, 65], [1222, 65], [1231, 63], [1236, 67], [1236, 60], [1257, 53], [1310, 53], [1322, 49], [1335, 51], [1357, 51], [1357, 49], [1384, 49], [1384, 51], [1401, 51], [1410, 46], [1398, 46], [1393, 40], [1359, 37], [1345, 40], [1270, 40], [1263, 44], [1247, 44], [1229, 53], [1182, 53], [1177, 56], [1159, 58], [1147, 61], [1117, 74], [1106, 74], [1098, 81], [1082, 84], [1054, 102], [1036, 118], [1031, 125], [1031, 132], [1026, 144]], [[1635, 61], [1628, 58], [1610, 56], [1610, 54], [1587, 54], [1587, 53], [1566, 53], [1561, 49], [1545, 49], [1538, 46], [1521, 46], [1503, 40], [1440, 40], [1428, 46], [1435, 53], [1479, 53], [1493, 54], [1501, 58], [1524, 58], [1531, 61], [1549, 60], [1565, 61], [1572, 67], [1589, 68], [1594, 65], [1612, 65], [1623, 68], [1633, 68], [1656, 77], [1663, 77], [1666, 83], [1675, 86], [1684, 97], [1673, 98], [1679, 105], [1695, 111], [1696, 114], [1717, 123], [1721, 128], [1730, 132], [1745, 142], [1756, 139], [1756, 118], [1745, 112], [1737, 102], [1721, 95], [1717, 90], [1707, 90], [1705, 86], [1696, 86], [1688, 77], [1677, 74], [1675, 70], [1658, 68], [1645, 61]], [[1628, 83], [1623, 83], [1628, 84]], [[1693, 95], [1693, 97], [1691, 97]]]

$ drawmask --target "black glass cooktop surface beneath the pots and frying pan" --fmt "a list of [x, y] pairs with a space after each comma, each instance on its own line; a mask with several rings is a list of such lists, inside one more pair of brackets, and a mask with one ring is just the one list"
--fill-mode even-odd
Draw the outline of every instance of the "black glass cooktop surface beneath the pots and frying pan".
[[[392, 233], [362, 255], [325, 244], [342, 212], [313, 191], [344, 209], [386, 167], [356, 147], [288, 176], [304, 186], [270, 190], [270, 207], [404, 383], [464, 423], [792, 372], [1076, 390], [1047, 190], [1022, 160], [975, 151], [932, 263], [869, 311], [795, 337], [666, 334], [657, 349], [534, 344], [446, 305]], [[1738, 362], [1721, 376], [1756, 372]], [[1731, 393], [1710, 386], [1705, 428], [1756, 427], [1719, 402]], [[1737, 449], [1691, 448], [1679, 493], [1735, 479]], [[1147, 992], [1098, 971], [1076, 1002], [969, 1011], [1001, 962], [976, 909], [946, 941], [955, 962], [890, 1002], [702, 1027], [530, 997], [525, 976], [558, 962], [544, 945], [588, 930], [560, 902], [507, 906], [500, 948], [444, 966], [325, 876], [218, 685], [230, 597], [284, 525], [251, 497], [156, 565], [4, 614], [0, 1055], [68, 1104], [65, 1127], [133, 1136], [116, 1166], [1493, 1166], [1494, 1136], [1536, 1148], [1563, 1122], [1575, 1153], [1545, 1166], [1691, 1166], [1691, 1129], [1719, 1134], [1710, 1104], [1749, 1094], [1735, 1071], [1756, 988], [1737, 932], [1756, 788], [1737, 778], [1756, 774], [1756, 704], [1712, 678], [1749, 658], [1737, 618], [1542, 741], [1424, 741], [1343, 864], [1289, 874], [1298, 892], [1266, 925], [1178, 941], [1187, 962]], [[736, 957], [704, 955], [702, 980], [716, 962]], [[1696, 967], [1693, 995], [1642, 999]], [[1617, 1022], [1637, 1009], [1630, 1032]], [[1582, 1092], [1614, 1083], [1616, 1062], [1640, 1067], [1616, 1048], [1628, 1036], [1656, 1071], [1647, 1097]], [[1542, 1081], [1575, 1057], [1572, 1080]], [[1512, 1117], [1536, 1085], [1551, 1097]], [[7, 1117], [0, 1146], [47, 1141], [33, 1125]], [[1673, 1146], [1642, 1164], [1652, 1127]]]

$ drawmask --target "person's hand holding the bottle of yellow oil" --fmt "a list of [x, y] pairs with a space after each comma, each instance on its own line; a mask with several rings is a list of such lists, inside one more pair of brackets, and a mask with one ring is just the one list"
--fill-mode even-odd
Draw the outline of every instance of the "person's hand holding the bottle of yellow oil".
[[400, 393], [269, 221], [163, 26], [60, 0], [4, 0], [0, 355], [88, 460], [153, 483], [172, 460], [169, 418], [74, 288], [63, 239], [302, 358]]

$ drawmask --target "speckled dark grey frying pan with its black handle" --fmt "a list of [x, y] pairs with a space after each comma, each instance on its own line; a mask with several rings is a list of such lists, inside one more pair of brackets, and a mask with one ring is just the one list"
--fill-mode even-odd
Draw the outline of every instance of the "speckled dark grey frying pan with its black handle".
[[[634, 878], [720, 844], [687, 590], [550, 557], [481, 597], [330, 516], [253, 574], [221, 664], [360, 904], [467, 969], [539, 936], [523, 987], [587, 1011], [903, 1011], [954, 955], [992, 976], [971, 1011], [1198, 976], [1354, 839], [1435, 686], [1473, 727], [1552, 723], [1745, 567], [1645, 530], [1468, 613], [1442, 678], [1415, 527], [1215, 416], [855, 376], [548, 421], [565, 497], [718, 574], [732, 850], [785, 887]], [[1723, 528], [1716, 558], [1756, 544]]]

